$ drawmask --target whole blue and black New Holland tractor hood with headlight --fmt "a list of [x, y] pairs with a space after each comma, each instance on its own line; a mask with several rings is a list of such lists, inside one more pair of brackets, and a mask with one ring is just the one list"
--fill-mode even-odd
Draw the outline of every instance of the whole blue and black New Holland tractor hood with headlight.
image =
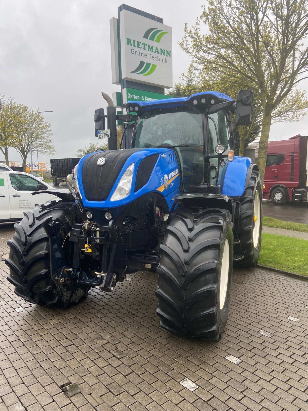
[[119, 207], [148, 192], [166, 197], [180, 186], [175, 152], [169, 148], [94, 152], [80, 160], [76, 177], [83, 204], [94, 208]]

